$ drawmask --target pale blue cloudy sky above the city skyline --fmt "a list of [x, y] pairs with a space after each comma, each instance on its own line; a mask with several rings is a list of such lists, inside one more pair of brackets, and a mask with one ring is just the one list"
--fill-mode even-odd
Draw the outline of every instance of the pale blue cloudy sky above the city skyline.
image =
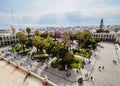
[[93, 26], [102, 18], [105, 25], [120, 25], [120, 0], [0, 0], [0, 27]]

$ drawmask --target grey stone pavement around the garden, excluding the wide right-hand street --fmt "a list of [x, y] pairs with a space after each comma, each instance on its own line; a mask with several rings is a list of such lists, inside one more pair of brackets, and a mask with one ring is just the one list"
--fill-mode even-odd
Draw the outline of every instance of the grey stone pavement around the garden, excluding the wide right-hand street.
[[[6, 47], [2, 50], [7, 51], [7, 48], [8, 47]], [[99, 53], [99, 52], [100, 52], [100, 48], [98, 47], [98, 49], [96, 50], [96, 52], [93, 54], [92, 57], [95, 57], [94, 56], [95, 54], [97, 56], [97, 53]], [[76, 57], [84, 59], [85, 61], [88, 62], [88, 59], [86, 59], [84, 57], [81, 57], [78, 55], [76, 55]], [[41, 62], [36, 62], [31, 59], [28, 60], [27, 56], [21, 57], [21, 56], [17, 55], [16, 53], [13, 53], [12, 56], [8, 56], [7, 58], [19, 65], [22, 63], [23, 67], [25, 67], [27, 69], [31, 69], [32, 72], [34, 72], [42, 77], [44, 77], [44, 75], [47, 75], [49, 80], [58, 84], [59, 86], [65, 86], [65, 85], [66, 86], [78, 86], [78, 79], [80, 77], [83, 77], [84, 80], [87, 80], [88, 78], [85, 77], [85, 74], [88, 73], [88, 75], [90, 75], [92, 67], [96, 61], [95, 59], [92, 59], [91, 63], [86, 64], [84, 66], [84, 69], [78, 70], [78, 73], [76, 73], [76, 69], [69, 70], [69, 72], [71, 73], [71, 76], [67, 77], [66, 71], [60, 71], [57, 68], [52, 68], [50, 66], [52, 59], [49, 59], [49, 62], [46, 61], [44, 64], [42, 64]], [[32, 64], [32, 68], [31, 68], [31, 64]], [[47, 70], [46, 70], [46, 65], [49, 65], [49, 69], [47, 69]]]

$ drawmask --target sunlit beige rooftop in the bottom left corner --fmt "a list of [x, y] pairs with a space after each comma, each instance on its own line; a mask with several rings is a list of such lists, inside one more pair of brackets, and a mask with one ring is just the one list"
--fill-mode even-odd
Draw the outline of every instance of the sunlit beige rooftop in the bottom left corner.
[[[14, 63], [0, 60], [0, 84], [1, 86], [45, 86], [45, 79], [22, 69]], [[47, 86], [54, 86], [47, 80]]]

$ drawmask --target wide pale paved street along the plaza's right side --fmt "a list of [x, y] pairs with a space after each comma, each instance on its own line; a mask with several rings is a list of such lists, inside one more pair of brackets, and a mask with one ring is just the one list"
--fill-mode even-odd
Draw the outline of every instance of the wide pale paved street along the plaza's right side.
[[[119, 55], [116, 54], [115, 46], [112, 43], [101, 43], [103, 49], [91, 73], [93, 80], [87, 81], [87, 86], [120, 86], [120, 63], [118, 61]], [[120, 53], [118, 51], [118, 53]], [[117, 61], [117, 64], [113, 63]], [[103, 67], [104, 69], [100, 68]], [[86, 86], [86, 85], [84, 85]]]

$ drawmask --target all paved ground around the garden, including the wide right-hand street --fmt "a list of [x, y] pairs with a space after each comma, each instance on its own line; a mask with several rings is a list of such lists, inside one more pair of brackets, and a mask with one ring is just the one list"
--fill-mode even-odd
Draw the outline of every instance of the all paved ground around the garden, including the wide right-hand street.
[[[28, 60], [27, 56], [21, 58], [21, 56], [15, 53], [6, 58], [17, 64], [22, 62], [23, 67], [31, 69], [32, 72], [41, 77], [45, 77], [46, 75], [50, 81], [58, 86], [120, 86], [120, 51], [117, 48], [119, 46], [112, 43], [100, 43], [100, 45], [104, 48], [98, 46], [95, 52], [93, 51], [90, 59], [91, 63], [86, 64], [84, 69], [78, 70], [78, 73], [76, 73], [76, 69], [69, 70], [71, 73], [70, 77], [66, 76], [66, 71], [59, 71], [57, 68], [52, 68], [50, 66], [52, 59], [42, 64], [31, 59]], [[3, 47], [0, 51], [6, 50], [7, 48]], [[4, 56], [4, 54], [1, 55]], [[13, 58], [14, 56], [16, 58]], [[88, 62], [88, 59], [81, 56], [76, 55], [76, 57]], [[117, 61], [117, 64], [114, 64], [113, 60]], [[46, 69], [46, 65], [49, 65], [49, 69]], [[104, 66], [104, 69], [99, 69], [99, 66]], [[86, 73], [88, 73], [88, 77], [85, 77]], [[93, 80], [90, 80], [91, 76]], [[83, 77], [85, 80], [82, 85], [79, 85], [77, 82], [80, 77]]]

